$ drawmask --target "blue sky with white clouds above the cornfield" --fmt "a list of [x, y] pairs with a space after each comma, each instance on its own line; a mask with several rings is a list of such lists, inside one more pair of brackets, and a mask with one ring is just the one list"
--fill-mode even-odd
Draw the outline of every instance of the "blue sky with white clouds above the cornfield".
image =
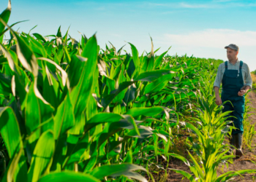
[[[8, 4], [0, 0], [0, 12]], [[5, 6], [4, 6], [5, 4]], [[193, 55], [196, 58], [227, 60], [225, 46], [237, 44], [238, 59], [256, 70], [256, 1], [84, 1], [84, 0], [12, 0], [9, 25], [14, 29], [42, 36], [61, 32], [80, 40], [97, 33], [99, 46], [104, 49], [109, 41], [116, 47], [131, 52], [130, 42], [140, 55], [144, 50], [161, 47], [159, 55]], [[79, 32], [80, 33], [79, 33]]]

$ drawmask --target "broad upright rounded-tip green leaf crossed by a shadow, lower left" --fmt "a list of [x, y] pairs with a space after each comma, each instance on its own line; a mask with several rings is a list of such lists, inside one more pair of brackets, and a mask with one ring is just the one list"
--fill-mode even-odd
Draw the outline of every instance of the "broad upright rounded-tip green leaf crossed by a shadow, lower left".
[[[47, 145], [45, 145], [47, 143]], [[37, 146], [34, 149], [29, 168], [29, 181], [37, 181], [45, 173], [52, 162], [53, 152], [55, 149], [55, 140], [53, 132], [48, 130], [40, 136]]]

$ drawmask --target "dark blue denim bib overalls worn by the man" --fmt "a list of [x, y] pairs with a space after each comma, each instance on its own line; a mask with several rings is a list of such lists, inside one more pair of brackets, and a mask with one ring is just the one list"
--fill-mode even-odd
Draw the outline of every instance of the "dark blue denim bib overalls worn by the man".
[[222, 103], [226, 100], [230, 100], [233, 106], [228, 102], [225, 103], [223, 112], [233, 111], [229, 120], [233, 120], [236, 130], [232, 130], [232, 135], [243, 133], [243, 119], [244, 119], [244, 95], [239, 96], [238, 92], [241, 87], [244, 86], [243, 74], [242, 74], [243, 62], [240, 61], [239, 72], [238, 70], [228, 70], [227, 61], [225, 62], [225, 72], [222, 79]]

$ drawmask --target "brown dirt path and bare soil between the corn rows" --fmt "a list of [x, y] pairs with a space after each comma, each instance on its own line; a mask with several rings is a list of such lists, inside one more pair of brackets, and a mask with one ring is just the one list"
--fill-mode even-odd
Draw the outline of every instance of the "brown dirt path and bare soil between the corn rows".
[[[256, 108], [256, 93], [255, 92], [249, 92], [249, 100], [251, 103], [249, 103], [249, 106]], [[255, 111], [249, 112], [249, 114], [252, 114], [249, 116], [249, 121], [251, 124], [256, 123], [256, 113]], [[256, 124], [255, 124], [255, 130], [256, 130]], [[229, 164], [228, 168], [226, 165], [223, 167], [219, 167], [217, 173], [222, 174], [226, 173], [227, 171], [236, 171], [236, 170], [256, 170], [256, 135], [253, 138], [252, 141], [252, 151], [249, 151], [249, 149], [246, 146], [243, 146], [243, 152], [244, 156], [240, 157], [238, 159], [233, 159], [233, 164]], [[255, 163], [251, 162], [255, 161]], [[189, 167], [187, 165], [184, 165], [183, 162], [180, 161], [173, 161], [172, 164], [170, 164], [170, 168], [173, 169], [178, 169], [178, 170], [185, 170], [187, 172], [189, 171]], [[167, 176], [166, 181], [188, 181], [187, 178], [182, 180], [182, 175], [179, 175], [174, 172], [170, 172]], [[246, 181], [246, 182], [251, 182], [255, 181], [256, 182], [256, 174], [244, 174], [243, 176], [238, 176], [236, 178], [231, 179], [230, 181]]]

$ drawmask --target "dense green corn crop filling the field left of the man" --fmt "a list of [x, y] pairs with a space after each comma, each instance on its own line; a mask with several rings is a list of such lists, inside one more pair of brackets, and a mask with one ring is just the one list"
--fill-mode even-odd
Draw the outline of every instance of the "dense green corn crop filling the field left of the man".
[[[157, 171], [173, 170], [211, 182], [255, 173], [217, 176], [234, 157], [223, 144], [228, 112], [213, 90], [222, 60], [156, 55], [153, 43], [141, 55], [129, 43], [132, 54], [121, 55], [96, 35], [78, 42], [60, 28], [48, 38], [17, 32], [10, 12], [9, 1], [0, 15], [1, 181], [159, 181]], [[191, 173], [170, 169], [174, 159]]]

